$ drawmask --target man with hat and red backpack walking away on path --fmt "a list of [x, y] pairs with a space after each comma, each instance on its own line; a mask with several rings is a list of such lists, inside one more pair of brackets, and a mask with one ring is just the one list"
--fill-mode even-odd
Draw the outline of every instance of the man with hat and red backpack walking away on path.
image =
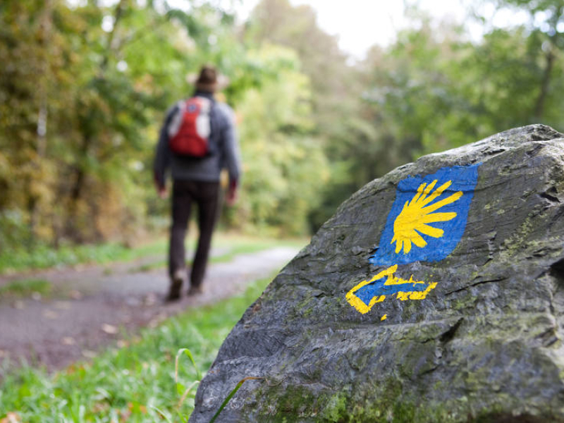
[[168, 274], [171, 278], [166, 300], [180, 298], [188, 280], [184, 240], [192, 202], [198, 207], [200, 237], [188, 295], [202, 293], [209, 247], [219, 207], [220, 173], [227, 168], [229, 186], [226, 203], [232, 205], [240, 176], [240, 161], [233, 111], [214, 99], [218, 90], [214, 66], [203, 66], [195, 82], [195, 92], [166, 114], [154, 159], [154, 181], [161, 198], [167, 197], [166, 173], [171, 168], [172, 225], [168, 247]]

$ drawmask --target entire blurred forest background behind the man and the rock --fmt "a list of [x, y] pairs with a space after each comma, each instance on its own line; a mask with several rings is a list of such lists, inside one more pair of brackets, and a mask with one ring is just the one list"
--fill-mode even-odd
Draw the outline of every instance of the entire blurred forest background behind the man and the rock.
[[422, 154], [529, 123], [564, 129], [563, 0], [487, 1], [527, 13], [507, 27], [469, 7], [479, 39], [405, 3], [409, 27], [351, 61], [288, 0], [260, 1], [243, 23], [219, 1], [2, 0], [0, 255], [163, 231], [157, 132], [202, 63], [231, 80], [221, 97], [245, 173], [221, 225], [237, 231], [307, 235]]

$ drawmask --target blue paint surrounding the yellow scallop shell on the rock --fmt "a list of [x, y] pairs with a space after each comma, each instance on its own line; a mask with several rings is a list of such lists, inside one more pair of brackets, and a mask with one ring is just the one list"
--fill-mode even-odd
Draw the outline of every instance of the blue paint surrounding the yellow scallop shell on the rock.
[[[398, 188], [396, 189], [396, 200], [392, 204], [391, 211], [386, 220], [386, 226], [384, 226], [384, 231], [380, 237], [379, 248], [376, 254], [370, 257], [369, 262], [375, 265], [406, 264], [418, 261], [438, 262], [450, 255], [460, 242], [460, 238], [462, 238], [466, 227], [468, 210], [470, 209], [470, 203], [474, 196], [474, 188], [478, 180], [479, 165], [480, 164], [472, 164], [470, 166], [446, 167], [427, 176], [410, 176], [400, 180]], [[434, 228], [439, 228], [444, 231], [444, 235], [441, 238], [433, 238], [429, 235], [420, 234], [427, 242], [427, 245], [424, 247], [413, 245], [411, 250], [407, 253], [403, 250], [396, 253], [396, 242], [392, 243], [394, 236], [393, 223], [402, 211], [405, 202], [409, 202], [415, 197], [419, 186], [422, 183], [429, 185], [434, 180], [437, 180], [435, 189], [448, 180], [452, 180], [452, 184], [439, 197], [429, 203], [429, 205], [435, 204], [453, 195], [455, 192], [462, 191], [462, 197], [457, 201], [446, 204], [441, 207], [441, 209], [437, 210], [437, 212], [441, 213], [455, 212], [457, 214], [456, 217], [449, 221], [430, 223]]]

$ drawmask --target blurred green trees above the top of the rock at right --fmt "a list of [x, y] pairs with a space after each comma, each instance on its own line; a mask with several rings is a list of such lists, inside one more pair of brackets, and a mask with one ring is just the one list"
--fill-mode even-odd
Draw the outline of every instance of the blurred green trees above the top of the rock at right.
[[391, 167], [520, 125], [563, 128], [558, 88], [564, 58], [546, 37], [557, 42], [564, 23], [561, 32], [555, 23], [492, 27], [471, 42], [461, 26], [417, 19], [417, 30], [401, 32], [385, 51], [373, 49], [364, 63], [370, 87], [365, 95], [379, 118], [379, 144], [386, 145], [384, 161]]

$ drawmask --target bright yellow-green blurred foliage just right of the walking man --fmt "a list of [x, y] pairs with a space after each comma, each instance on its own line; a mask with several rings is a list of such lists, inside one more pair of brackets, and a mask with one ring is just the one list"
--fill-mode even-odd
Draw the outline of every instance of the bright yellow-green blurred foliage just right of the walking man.
[[307, 233], [307, 214], [319, 204], [317, 184], [329, 179], [321, 141], [312, 134], [309, 81], [293, 51], [264, 44], [250, 54], [273, 76], [238, 105], [245, 179], [231, 221]]

